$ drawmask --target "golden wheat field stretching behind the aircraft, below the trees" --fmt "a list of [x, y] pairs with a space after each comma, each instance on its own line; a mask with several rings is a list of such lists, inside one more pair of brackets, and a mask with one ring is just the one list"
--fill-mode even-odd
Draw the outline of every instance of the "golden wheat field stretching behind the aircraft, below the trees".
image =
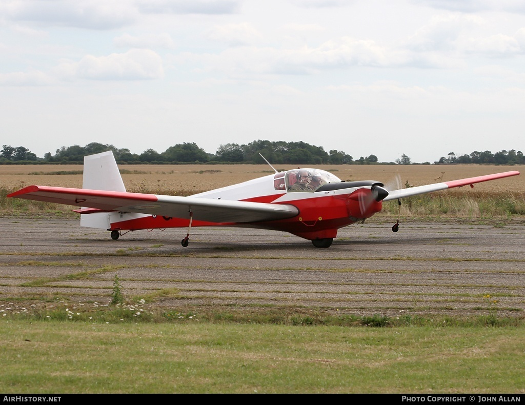
[[[276, 165], [277, 170], [295, 167]], [[416, 186], [441, 181], [518, 170], [510, 178], [476, 184], [477, 191], [525, 193], [525, 166], [495, 165], [320, 165], [341, 180], [377, 180], [385, 184]], [[190, 195], [273, 173], [268, 165], [121, 165], [128, 191]], [[53, 174], [55, 172], [79, 174]], [[26, 185], [81, 188], [82, 165], [0, 165], [0, 186], [13, 190]], [[396, 178], [399, 180], [396, 181]], [[397, 188], [397, 187], [395, 187]]]

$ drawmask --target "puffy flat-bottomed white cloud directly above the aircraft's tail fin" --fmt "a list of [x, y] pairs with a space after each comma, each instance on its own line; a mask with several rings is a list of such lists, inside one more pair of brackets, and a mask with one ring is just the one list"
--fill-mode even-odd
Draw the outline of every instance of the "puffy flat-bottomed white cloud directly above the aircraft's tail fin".
[[125, 54], [86, 55], [78, 63], [64, 61], [56, 69], [62, 78], [144, 80], [164, 77], [162, 59], [152, 50], [131, 49]]

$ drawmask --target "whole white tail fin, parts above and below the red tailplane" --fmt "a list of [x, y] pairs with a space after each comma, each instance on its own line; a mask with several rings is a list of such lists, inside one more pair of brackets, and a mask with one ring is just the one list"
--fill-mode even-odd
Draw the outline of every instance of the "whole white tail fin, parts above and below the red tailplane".
[[[112, 151], [84, 157], [82, 188], [89, 190], [126, 191]], [[97, 212], [80, 215], [80, 226], [90, 228], [111, 228], [111, 215]]]

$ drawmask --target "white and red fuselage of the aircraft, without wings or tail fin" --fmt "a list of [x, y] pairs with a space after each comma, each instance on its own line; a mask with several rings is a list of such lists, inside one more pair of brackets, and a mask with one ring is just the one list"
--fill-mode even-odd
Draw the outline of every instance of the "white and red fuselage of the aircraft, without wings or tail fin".
[[[289, 232], [308, 240], [318, 238], [333, 238], [337, 230], [356, 221], [362, 221], [376, 212], [381, 211], [382, 202], [367, 196], [371, 194], [372, 184], [379, 182], [349, 182], [341, 180], [326, 171], [319, 169], [300, 169], [309, 173], [309, 179], [304, 190], [292, 190], [293, 185], [300, 182], [299, 169], [289, 170], [249, 180], [244, 183], [226, 186], [224, 188], [191, 195], [188, 199], [208, 199], [226, 201], [254, 202], [265, 204], [281, 204], [297, 209], [295, 215], [275, 220], [238, 221], [203, 221], [193, 219], [192, 226], [247, 226]], [[313, 188], [312, 176], [319, 177], [321, 184], [317, 190]], [[344, 184], [348, 188], [332, 189], [328, 184]], [[382, 185], [382, 184], [381, 184]], [[162, 200], [164, 196], [141, 194], [152, 204]], [[363, 204], [366, 201], [366, 204]], [[88, 214], [91, 215], [91, 214]], [[140, 230], [164, 229], [168, 227], [187, 227], [190, 223], [190, 209], [184, 217], [166, 215], [125, 215], [113, 212], [109, 215], [110, 230]]]

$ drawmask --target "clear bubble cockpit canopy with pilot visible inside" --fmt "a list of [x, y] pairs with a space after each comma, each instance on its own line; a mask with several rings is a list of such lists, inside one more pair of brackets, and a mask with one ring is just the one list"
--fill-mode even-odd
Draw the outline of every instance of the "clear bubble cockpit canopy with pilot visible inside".
[[324, 170], [293, 169], [274, 176], [276, 190], [311, 192], [328, 183], [340, 183], [341, 179]]

